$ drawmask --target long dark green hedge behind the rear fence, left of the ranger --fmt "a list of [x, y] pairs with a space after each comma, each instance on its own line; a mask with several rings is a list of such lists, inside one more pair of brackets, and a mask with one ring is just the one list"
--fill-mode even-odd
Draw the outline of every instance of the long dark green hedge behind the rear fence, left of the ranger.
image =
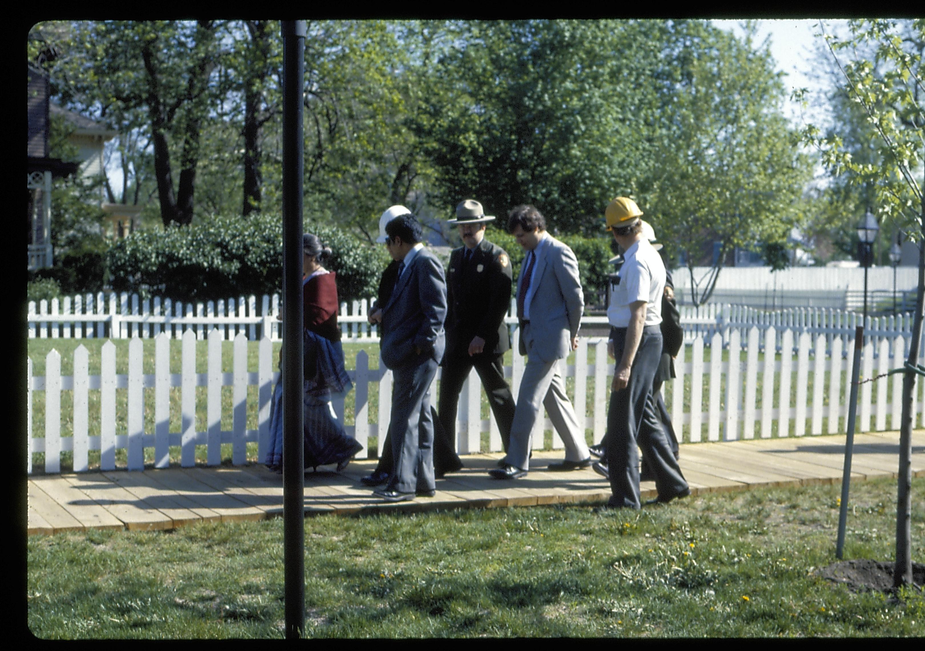
[[[388, 253], [338, 227], [306, 222], [333, 250], [341, 301], [376, 295]], [[149, 291], [176, 301], [215, 301], [282, 289], [279, 215], [213, 216], [190, 227], [137, 231], [106, 254], [112, 288]]]

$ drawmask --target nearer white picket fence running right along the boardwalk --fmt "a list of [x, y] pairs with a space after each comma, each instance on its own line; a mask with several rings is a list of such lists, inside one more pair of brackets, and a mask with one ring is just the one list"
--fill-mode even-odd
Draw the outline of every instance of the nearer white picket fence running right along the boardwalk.
[[[515, 330], [514, 350], [518, 335]], [[246, 462], [245, 444], [253, 441], [257, 442], [259, 459], [263, 460], [267, 445], [271, 390], [278, 377], [273, 370], [276, 360], [272, 359], [271, 340], [267, 337], [260, 339], [258, 370], [256, 373], [249, 372], [248, 338], [239, 332], [232, 346], [233, 371], [223, 373], [221, 342], [226, 336], [218, 328], [209, 333], [207, 371], [204, 374], [197, 374], [195, 369], [198, 336], [193, 329], [187, 329], [181, 336], [179, 374], [169, 373], [170, 335], [166, 332], [154, 338], [153, 375], [142, 372], [143, 344], [138, 337], [129, 341], [127, 375], [116, 373], [116, 346], [112, 341], [107, 341], [103, 346], [100, 375], [89, 375], [88, 353], [82, 345], [74, 352], [73, 375], [61, 375], [61, 358], [56, 350], [50, 351], [45, 358], [44, 376], [32, 376], [30, 360], [27, 377], [28, 472], [32, 472], [32, 454], [36, 452], [44, 453], [45, 473], [60, 472], [60, 458], [64, 451], [73, 453], [73, 468], [76, 472], [88, 469], [89, 450], [100, 450], [102, 470], [115, 469], [117, 449], [127, 450], [128, 470], [142, 470], [145, 448], [154, 448], [155, 468], [166, 467], [170, 446], [179, 446], [181, 466], [194, 465], [196, 446], [205, 446], [207, 463], [216, 465], [220, 461], [220, 445], [223, 443], [232, 445], [233, 464]], [[775, 339], [778, 337], [782, 341], [781, 359], [769, 355], [759, 362], [759, 350], [774, 350]], [[847, 415], [849, 394], [845, 384], [851, 370], [850, 355], [847, 353], [853, 350], [852, 338], [833, 335], [827, 352], [828, 339], [823, 333], [813, 337], [809, 332], [795, 333], [789, 327], [780, 333], [774, 327], [768, 327], [762, 332], [757, 325], [753, 325], [748, 330], [743, 346], [740, 331], [733, 328], [728, 333], [726, 360], [722, 359], [725, 356], [721, 353], [722, 338], [719, 332], [714, 333], [709, 340], [701, 334], [690, 345], [682, 347], [675, 363], [677, 377], [664, 385], [665, 399], [671, 405], [672, 422], [676, 431], [685, 433], [685, 440], [697, 442], [768, 438], [772, 436], [773, 424], [777, 425], [777, 436], [820, 435], [823, 434], [823, 421], [826, 420], [826, 433], [844, 431], [842, 419]], [[579, 338], [574, 362], [568, 365], [566, 371], [567, 376], [575, 378], [573, 405], [578, 422], [585, 423], [586, 428], [593, 431], [595, 441], [599, 441], [606, 430], [607, 400], [610, 397], [608, 375], [613, 373], [613, 362], [608, 359], [606, 342], [606, 338]], [[907, 345], [908, 338], [905, 337], [868, 341], [863, 349], [862, 378], [870, 378], [902, 366]], [[708, 346], [711, 354], [709, 362], [705, 362], [704, 349]], [[743, 351], [746, 353], [744, 361]], [[505, 376], [510, 378], [515, 398], [523, 373], [524, 358], [514, 354], [513, 365], [505, 368]], [[368, 356], [361, 350], [356, 354], [355, 370], [350, 375], [355, 392], [354, 424], [346, 429], [364, 445], [364, 451], [360, 454], [364, 457], [369, 452], [369, 437], [378, 436], [384, 431], [379, 424], [388, 424], [391, 372], [381, 362], [378, 369], [370, 369]], [[762, 380], [760, 397], [759, 377]], [[590, 410], [586, 408], [589, 380], [593, 386], [593, 407]], [[774, 387], [778, 384], [779, 391], [775, 392]], [[246, 397], [248, 387], [252, 385], [258, 387], [257, 428], [246, 429]], [[378, 385], [377, 423], [370, 423], [371, 385]], [[690, 394], [686, 405], [683, 398], [685, 385]], [[862, 385], [857, 407], [857, 431], [882, 431], [888, 426], [888, 417], [889, 427], [897, 427], [901, 385], [901, 374], [889, 375]], [[796, 387], [795, 391], [791, 390], [792, 386]], [[179, 432], [169, 431], [171, 387], [180, 388]], [[196, 431], [195, 427], [195, 387], [206, 387], [205, 431]], [[233, 424], [229, 431], [221, 429], [222, 387], [233, 387]], [[888, 402], [889, 387], [893, 388], [893, 399]], [[921, 395], [922, 387], [923, 383], [917, 382], [915, 426], [919, 426], [922, 406], [925, 405]], [[32, 436], [32, 397], [37, 391], [44, 392], [44, 436]], [[99, 436], [88, 434], [90, 391], [100, 392]], [[119, 429], [127, 432], [125, 435], [116, 434], [118, 391], [127, 391], [128, 394], [123, 394], [127, 402], [125, 422], [124, 425], [118, 424]], [[144, 391], [154, 391], [154, 431], [145, 431], [143, 426]], [[70, 392], [69, 399], [73, 401], [73, 422], [70, 428], [73, 436], [61, 436], [61, 401], [67, 399], [63, 392]], [[792, 393], [795, 394], [793, 399]], [[458, 413], [458, 448], [462, 454], [480, 451], [481, 435], [484, 432], [489, 434], [488, 450], [501, 449], [494, 416], [489, 415], [487, 420], [480, 417], [481, 394], [478, 376], [473, 370], [463, 388]], [[436, 400], [436, 387], [432, 390], [432, 397]], [[758, 406], [759, 400], [761, 407]], [[343, 397], [334, 401], [334, 409], [339, 418], [344, 418]], [[551, 429], [549, 418], [538, 420], [536, 427], [533, 445], [541, 448], [543, 436], [540, 436], [540, 430]], [[553, 447], [561, 448], [561, 445], [559, 437], [553, 436]]]

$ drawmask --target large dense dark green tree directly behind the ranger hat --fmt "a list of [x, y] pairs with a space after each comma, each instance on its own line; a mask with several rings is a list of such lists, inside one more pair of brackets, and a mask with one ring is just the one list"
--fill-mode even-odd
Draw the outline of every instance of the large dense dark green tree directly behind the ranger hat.
[[413, 129], [448, 212], [466, 197], [504, 213], [535, 204], [550, 227], [597, 232], [604, 207], [630, 187], [654, 106], [635, 86], [654, 55], [638, 22], [456, 22]]

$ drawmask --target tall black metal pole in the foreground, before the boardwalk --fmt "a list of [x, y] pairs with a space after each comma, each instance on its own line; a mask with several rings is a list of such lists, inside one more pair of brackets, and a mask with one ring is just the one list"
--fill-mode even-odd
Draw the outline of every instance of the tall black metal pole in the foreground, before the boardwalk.
[[283, 568], [286, 638], [305, 630], [302, 449], [302, 88], [305, 21], [283, 20]]

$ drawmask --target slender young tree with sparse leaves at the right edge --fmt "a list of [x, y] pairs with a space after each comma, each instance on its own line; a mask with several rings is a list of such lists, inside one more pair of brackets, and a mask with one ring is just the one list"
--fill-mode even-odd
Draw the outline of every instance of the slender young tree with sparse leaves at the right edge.
[[857, 160], [842, 133], [825, 135], [815, 125], [804, 138], [816, 146], [835, 175], [845, 175], [858, 190], [872, 192], [875, 210], [919, 240], [919, 288], [909, 356], [903, 376], [899, 480], [896, 498], [894, 585], [912, 583], [911, 454], [912, 393], [919, 362], [925, 305], [925, 202], [919, 179], [925, 160], [925, 20], [851, 20], [849, 34], [838, 38], [820, 21], [833, 62], [842, 73], [841, 90], [866, 114], [876, 138], [873, 152]]

